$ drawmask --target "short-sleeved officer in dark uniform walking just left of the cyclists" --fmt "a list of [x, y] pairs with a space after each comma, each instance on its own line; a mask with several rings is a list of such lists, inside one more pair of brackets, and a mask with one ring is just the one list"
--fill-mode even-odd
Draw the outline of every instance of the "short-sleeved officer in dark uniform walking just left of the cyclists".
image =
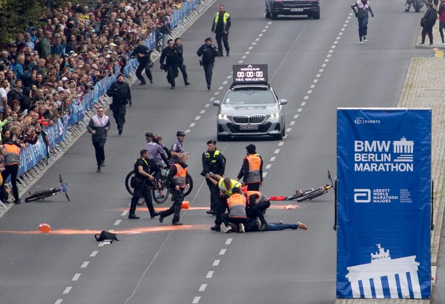
[[130, 214], [128, 215], [128, 218], [130, 219], [140, 218], [136, 217], [134, 214], [140, 197], [145, 199], [145, 204], [147, 204], [150, 217], [153, 218], [159, 216], [159, 213], [155, 212], [153, 208], [153, 201], [151, 199], [151, 191], [148, 183], [151, 183], [151, 181], [155, 179], [154, 175], [161, 174], [161, 171], [156, 163], [148, 158], [148, 151], [146, 149], [140, 150], [139, 154], [140, 158], [136, 159], [136, 162], [134, 163], [135, 184], [132, 204], [130, 205]]

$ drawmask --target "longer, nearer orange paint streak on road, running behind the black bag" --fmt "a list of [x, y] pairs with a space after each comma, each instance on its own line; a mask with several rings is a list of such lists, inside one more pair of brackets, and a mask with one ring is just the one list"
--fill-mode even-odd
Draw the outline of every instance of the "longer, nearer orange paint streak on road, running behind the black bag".
[[[155, 227], [139, 227], [133, 229], [109, 230], [109, 231], [117, 234], [136, 234], [136, 233], [150, 233], [150, 232], [162, 232], [162, 231], [174, 231], [174, 230], [204, 230], [204, 229], [208, 230], [209, 225], [182, 225], [182, 226], [162, 225]], [[13, 231], [13, 230], [9, 231], [4, 230], [0, 231], [0, 233], [42, 234], [41, 231]], [[71, 235], [71, 234], [95, 234], [95, 233], [100, 233], [100, 230], [53, 229], [49, 234]]]

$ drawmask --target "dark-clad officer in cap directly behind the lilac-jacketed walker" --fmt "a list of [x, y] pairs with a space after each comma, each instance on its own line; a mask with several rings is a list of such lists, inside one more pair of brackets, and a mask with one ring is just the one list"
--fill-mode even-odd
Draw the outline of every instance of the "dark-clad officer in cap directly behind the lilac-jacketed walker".
[[125, 124], [125, 114], [127, 113], [127, 103], [132, 106], [132, 92], [130, 86], [124, 82], [124, 76], [119, 74], [107, 91], [107, 95], [113, 97], [110, 109], [113, 111], [113, 117], [116, 121], [119, 135], [122, 134]]

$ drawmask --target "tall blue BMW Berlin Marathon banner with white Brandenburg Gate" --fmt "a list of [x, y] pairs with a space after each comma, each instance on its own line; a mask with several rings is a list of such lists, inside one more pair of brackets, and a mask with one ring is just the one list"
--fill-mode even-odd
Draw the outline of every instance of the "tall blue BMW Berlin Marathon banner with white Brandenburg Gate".
[[430, 298], [431, 114], [337, 109], [337, 298]]

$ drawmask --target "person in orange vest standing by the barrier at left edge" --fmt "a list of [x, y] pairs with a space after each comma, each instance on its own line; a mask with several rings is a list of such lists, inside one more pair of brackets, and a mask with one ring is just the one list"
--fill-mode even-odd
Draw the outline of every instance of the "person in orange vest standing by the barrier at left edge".
[[1, 173], [3, 179], [0, 187], [0, 200], [6, 201], [4, 183], [9, 174], [11, 174], [12, 194], [14, 195], [14, 203], [20, 204], [22, 201], [18, 196], [17, 173], [20, 166], [20, 146], [17, 146], [10, 137], [5, 138], [3, 145], [4, 171]]

